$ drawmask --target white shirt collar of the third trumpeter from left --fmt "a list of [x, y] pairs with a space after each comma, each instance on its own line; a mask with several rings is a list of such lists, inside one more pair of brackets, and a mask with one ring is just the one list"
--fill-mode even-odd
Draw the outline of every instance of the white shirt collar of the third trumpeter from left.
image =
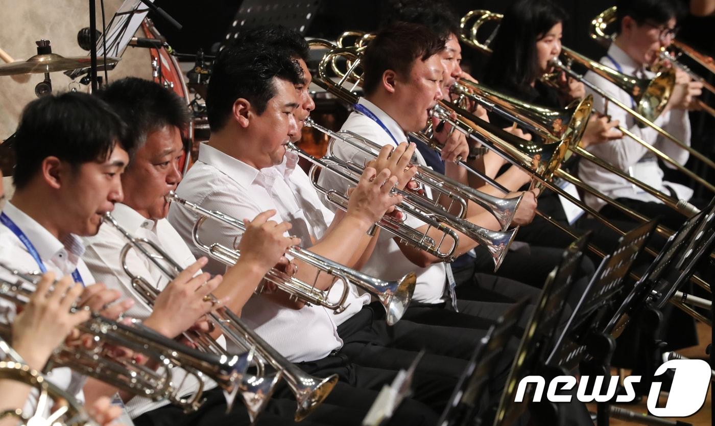
[[289, 151], [285, 153], [281, 164], [258, 170], [204, 143], [199, 148], [198, 161], [216, 167], [220, 172], [242, 186], [257, 182], [263, 187], [271, 187], [275, 182], [275, 177], [280, 176], [283, 179], [287, 179], [292, 174], [298, 164], [298, 159], [299, 157], [295, 152]]

